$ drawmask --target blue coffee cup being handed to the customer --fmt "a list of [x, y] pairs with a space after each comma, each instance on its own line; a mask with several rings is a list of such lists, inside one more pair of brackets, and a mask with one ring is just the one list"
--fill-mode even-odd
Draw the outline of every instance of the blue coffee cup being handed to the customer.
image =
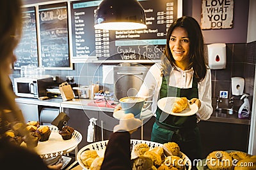
[[141, 111], [145, 111], [150, 107], [150, 104], [148, 106], [145, 106], [145, 99], [141, 97], [123, 97], [119, 100], [122, 110], [124, 113], [132, 113], [134, 117], [140, 117]]

